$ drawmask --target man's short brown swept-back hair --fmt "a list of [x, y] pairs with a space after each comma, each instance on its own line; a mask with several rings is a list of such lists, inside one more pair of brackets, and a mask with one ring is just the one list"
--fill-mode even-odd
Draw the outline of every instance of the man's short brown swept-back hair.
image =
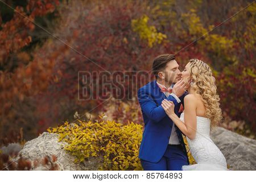
[[158, 78], [158, 73], [166, 68], [166, 64], [174, 59], [175, 56], [171, 54], [159, 55], [154, 59], [152, 64], [152, 72], [156, 79]]

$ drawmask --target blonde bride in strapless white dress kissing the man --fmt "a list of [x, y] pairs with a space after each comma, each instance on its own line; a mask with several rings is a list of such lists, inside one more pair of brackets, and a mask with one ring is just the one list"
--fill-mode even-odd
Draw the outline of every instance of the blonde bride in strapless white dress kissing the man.
[[210, 131], [222, 119], [220, 98], [216, 93], [215, 78], [210, 67], [201, 60], [192, 59], [181, 72], [188, 85], [184, 98], [184, 112], [180, 118], [174, 113], [174, 103], [163, 100], [162, 107], [168, 117], [186, 135], [189, 150], [197, 164], [183, 166], [187, 170], [228, 170], [226, 159], [210, 139]]

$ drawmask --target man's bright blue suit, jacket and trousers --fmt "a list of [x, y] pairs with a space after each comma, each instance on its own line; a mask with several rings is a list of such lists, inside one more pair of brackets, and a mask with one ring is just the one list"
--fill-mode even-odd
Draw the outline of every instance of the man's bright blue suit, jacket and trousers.
[[[173, 96], [166, 97], [163, 92], [160, 92], [156, 80], [149, 82], [138, 90], [138, 101], [141, 105], [144, 120], [139, 158], [144, 170], [181, 170], [182, 165], [189, 164], [182, 133], [176, 126], [175, 129], [180, 145], [168, 145], [174, 123], [161, 106], [164, 98], [168, 101], [173, 101], [175, 114], [180, 117], [181, 113], [178, 111], [180, 105], [184, 105], [186, 94], [184, 93], [183, 96], [179, 97], [181, 102], [177, 103]], [[167, 162], [164, 159], [167, 159]], [[166, 167], [168, 162], [170, 162], [171, 168]], [[154, 163], [158, 164], [155, 165]]]

